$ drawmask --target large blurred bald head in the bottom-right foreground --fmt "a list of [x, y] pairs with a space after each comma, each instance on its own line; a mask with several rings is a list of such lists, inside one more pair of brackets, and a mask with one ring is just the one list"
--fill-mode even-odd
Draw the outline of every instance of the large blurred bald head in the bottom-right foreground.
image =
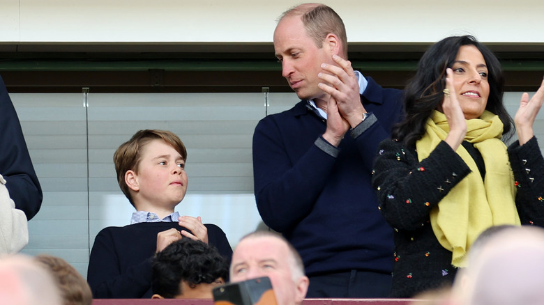
[[505, 228], [469, 253], [455, 279], [454, 302], [463, 305], [543, 304], [544, 230]]

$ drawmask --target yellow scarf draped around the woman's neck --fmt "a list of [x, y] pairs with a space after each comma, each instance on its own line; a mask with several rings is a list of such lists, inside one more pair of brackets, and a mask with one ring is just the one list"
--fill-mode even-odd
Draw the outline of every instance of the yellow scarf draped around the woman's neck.
[[[465, 141], [474, 144], [483, 157], [485, 179], [482, 181], [476, 162], [463, 146], [456, 153], [469, 166], [471, 173], [430, 212], [430, 221], [442, 247], [452, 251], [452, 265], [465, 267], [465, 254], [480, 233], [490, 226], [520, 225], [515, 208], [513, 172], [506, 146], [501, 141], [503, 124], [498, 116], [484, 111], [480, 118], [467, 120]], [[446, 116], [434, 111], [425, 134], [416, 142], [418, 159], [430, 155], [449, 132]], [[446, 182], [439, 182], [446, 183]]]

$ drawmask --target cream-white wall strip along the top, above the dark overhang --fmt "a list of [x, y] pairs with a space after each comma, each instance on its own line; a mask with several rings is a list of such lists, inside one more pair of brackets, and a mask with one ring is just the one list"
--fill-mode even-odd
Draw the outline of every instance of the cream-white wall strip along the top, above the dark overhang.
[[[20, 0], [6, 2], [20, 42], [271, 42], [275, 19], [300, 1]], [[471, 33], [483, 42], [544, 41], [538, 0], [324, 0], [344, 19], [351, 42], [434, 42]], [[3, 12], [4, 10], [2, 10]], [[17, 21], [20, 19], [20, 28]], [[3, 28], [4, 29], [4, 28]], [[17, 32], [19, 31], [19, 32]], [[14, 33], [15, 32], [15, 33]]]

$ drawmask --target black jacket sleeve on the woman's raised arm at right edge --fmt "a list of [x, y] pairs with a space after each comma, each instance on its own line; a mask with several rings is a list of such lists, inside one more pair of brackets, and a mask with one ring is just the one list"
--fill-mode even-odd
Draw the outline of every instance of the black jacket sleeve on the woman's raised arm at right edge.
[[544, 159], [536, 137], [508, 148], [517, 192], [515, 204], [522, 224], [544, 226]]

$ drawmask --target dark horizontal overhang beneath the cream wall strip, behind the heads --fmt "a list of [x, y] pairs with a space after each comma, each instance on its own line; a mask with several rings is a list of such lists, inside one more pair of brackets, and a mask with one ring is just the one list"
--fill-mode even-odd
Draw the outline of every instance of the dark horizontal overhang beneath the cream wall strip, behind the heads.
[[[350, 43], [354, 68], [402, 88], [430, 43]], [[534, 91], [544, 44], [486, 43], [508, 91]], [[271, 42], [1, 43], [0, 75], [10, 92], [291, 92]]]

